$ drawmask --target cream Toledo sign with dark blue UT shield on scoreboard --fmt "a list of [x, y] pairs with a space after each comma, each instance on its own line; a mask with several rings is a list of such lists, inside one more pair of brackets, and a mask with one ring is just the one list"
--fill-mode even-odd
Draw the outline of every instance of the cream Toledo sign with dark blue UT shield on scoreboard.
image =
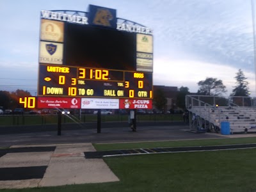
[[63, 63], [63, 44], [40, 42], [39, 63]]

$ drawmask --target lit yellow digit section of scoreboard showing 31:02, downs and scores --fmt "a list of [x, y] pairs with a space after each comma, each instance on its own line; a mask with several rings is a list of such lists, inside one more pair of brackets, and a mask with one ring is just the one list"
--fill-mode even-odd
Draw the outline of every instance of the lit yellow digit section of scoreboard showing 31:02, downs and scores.
[[152, 99], [152, 73], [40, 65], [40, 96]]

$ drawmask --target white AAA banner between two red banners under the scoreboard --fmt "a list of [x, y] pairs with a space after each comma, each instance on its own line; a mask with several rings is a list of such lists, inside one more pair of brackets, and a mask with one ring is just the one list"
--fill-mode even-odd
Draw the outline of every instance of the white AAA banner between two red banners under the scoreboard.
[[81, 109], [119, 109], [119, 99], [82, 98]]

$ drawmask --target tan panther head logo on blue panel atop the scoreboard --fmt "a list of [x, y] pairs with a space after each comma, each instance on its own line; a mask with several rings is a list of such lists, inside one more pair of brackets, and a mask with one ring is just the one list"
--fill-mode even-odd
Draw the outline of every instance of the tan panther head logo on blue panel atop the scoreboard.
[[95, 18], [93, 20], [93, 24], [101, 25], [101, 26], [111, 26], [110, 20], [113, 19], [113, 15], [109, 10], [100, 8], [97, 10], [95, 14]]

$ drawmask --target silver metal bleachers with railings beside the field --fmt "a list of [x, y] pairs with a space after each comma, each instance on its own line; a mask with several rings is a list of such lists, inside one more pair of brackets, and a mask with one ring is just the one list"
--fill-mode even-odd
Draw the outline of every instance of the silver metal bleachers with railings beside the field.
[[186, 95], [189, 129], [195, 132], [220, 132], [221, 122], [230, 123], [230, 132], [256, 132], [255, 99]]

